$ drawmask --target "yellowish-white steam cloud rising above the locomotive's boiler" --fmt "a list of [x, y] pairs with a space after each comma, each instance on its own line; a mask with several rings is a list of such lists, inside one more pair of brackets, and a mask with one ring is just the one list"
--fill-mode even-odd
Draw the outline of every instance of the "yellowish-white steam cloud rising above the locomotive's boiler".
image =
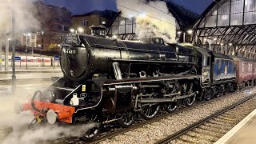
[[122, 16], [136, 18], [137, 38], [163, 38], [166, 42], [176, 42], [176, 20], [170, 14], [166, 2], [146, 0], [116, 0]]

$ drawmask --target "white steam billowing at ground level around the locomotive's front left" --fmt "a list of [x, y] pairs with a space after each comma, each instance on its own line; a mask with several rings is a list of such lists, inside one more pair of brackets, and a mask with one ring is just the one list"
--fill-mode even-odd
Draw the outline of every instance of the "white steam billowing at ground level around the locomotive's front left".
[[[40, 83], [40, 82], [37, 82]], [[37, 85], [37, 83], [31, 82], [31, 85]], [[0, 85], [1, 86], [1, 85]], [[10, 144], [37, 144], [46, 143], [47, 141], [53, 141], [58, 138], [76, 137], [82, 136], [86, 130], [97, 126], [97, 123], [90, 123], [88, 125], [75, 125], [75, 126], [46, 126], [36, 130], [28, 130], [28, 125], [34, 118], [34, 115], [30, 111], [22, 112], [21, 114], [14, 114], [14, 103], [28, 102], [30, 96], [34, 94], [35, 90], [44, 90], [47, 86], [50, 86], [50, 82], [41, 82], [41, 85], [34, 87], [33, 89], [26, 89], [23, 87], [17, 87], [17, 94], [3, 95], [0, 94], [0, 143]], [[6, 86], [2, 86], [6, 87]], [[2, 137], [2, 130], [11, 128], [12, 132]]]

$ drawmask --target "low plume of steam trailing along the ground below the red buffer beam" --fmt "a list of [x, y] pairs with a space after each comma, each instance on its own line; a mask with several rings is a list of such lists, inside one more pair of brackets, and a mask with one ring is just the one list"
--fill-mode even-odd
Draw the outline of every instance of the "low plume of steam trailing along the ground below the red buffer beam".
[[66, 142], [65, 138], [82, 137], [82, 134], [85, 134], [86, 130], [90, 130], [95, 126], [98, 126], [98, 123], [75, 126], [46, 126], [37, 130], [24, 130], [24, 128], [20, 128], [4, 138], [2, 144], [17, 142], [21, 144], [37, 144], [51, 143], [53, 141], [61, 141], [60, 143], [62, 143], [62, 141]]

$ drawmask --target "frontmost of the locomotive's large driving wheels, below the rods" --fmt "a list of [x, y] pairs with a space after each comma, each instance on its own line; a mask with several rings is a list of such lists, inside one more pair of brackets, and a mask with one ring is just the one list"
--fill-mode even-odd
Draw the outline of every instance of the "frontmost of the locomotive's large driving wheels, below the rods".
[[145, 118], [146, 120], [154, 118], [158, 111], [160, 110], [160, 105], [158, 104], [149, 104], [147, 106], [142, 106], [142, 118]]

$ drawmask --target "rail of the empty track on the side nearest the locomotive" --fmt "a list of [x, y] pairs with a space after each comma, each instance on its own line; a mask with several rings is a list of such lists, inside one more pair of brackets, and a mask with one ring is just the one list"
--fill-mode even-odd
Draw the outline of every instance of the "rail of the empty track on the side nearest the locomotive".
[[171, 141], [173, 141], [176, 138], [180, 138], [182, 135], [188, 133], [191, 130], [194, 130], [195, 128], [197, 128], [198, 126], [202, 126], [202, 124], [204, 124], [205, 122], [210, 121], [213, 118], [218, 117], [221, 114], [226, 113], [229, 110], [234, 109], [235, 107], [241, 105], [244, 102], [249, 101], [250, 99], [254, 98], [256, 96], [256, 94], [251, 94], [250, 96], [243, 98], [242, 100], [240, 100], [239, 102], [234, 102], [234, 104], [230, 105], [230, 106], [226, 106], [225, 108], [223, 108], [222, 110], [218, 110], [216, 113], [211, 114], [210, 116], [203, 118], [202, 120], [195, 122], [194, 124], [187, 126], [186, 128], [179, 130], [178, 132], [171, 134], [170, 136], [167, 136], [166, 138], [163, 138], [162, 140], [156, 142], [156, 144], [165, 144], [165, 143], [169, 143]]

